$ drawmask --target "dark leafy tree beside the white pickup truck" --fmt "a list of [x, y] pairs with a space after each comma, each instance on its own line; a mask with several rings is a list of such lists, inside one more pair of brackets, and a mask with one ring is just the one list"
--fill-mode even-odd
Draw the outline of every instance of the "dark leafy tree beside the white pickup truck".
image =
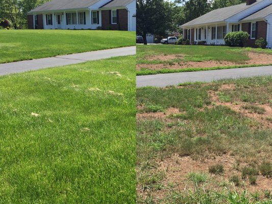
[[137, 34], [147, 44], [146, 34], [164, 35], [173, 29], [175, 4], [163, 0], [137, 0]]

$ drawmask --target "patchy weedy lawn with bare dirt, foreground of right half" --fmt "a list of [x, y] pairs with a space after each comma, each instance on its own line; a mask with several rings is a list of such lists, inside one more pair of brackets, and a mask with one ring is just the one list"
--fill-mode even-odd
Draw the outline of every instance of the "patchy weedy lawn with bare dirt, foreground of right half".
[[271, 204], [271, 93], [271, 76], [137, 89], [137, 202]]

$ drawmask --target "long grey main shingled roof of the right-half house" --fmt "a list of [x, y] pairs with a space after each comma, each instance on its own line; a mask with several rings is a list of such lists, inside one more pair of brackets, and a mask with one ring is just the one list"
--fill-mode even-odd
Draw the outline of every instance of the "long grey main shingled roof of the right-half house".
[[182, 27], [189, 26], [189, 25], [212, 23], [215, 21], [216, 22], [224, 21], [224, 20], [234, 16], [235, 14], [244, 11], [245, 9], [248, 9], [248, 8], [258, 4], [261, 1], [262, 0], [258, 0], [256, 3], [254, 3], [252, 5], [246, 5], [244, 3], [244, 4], [238, 4], [235, 6], [216, 9], [216, 10], [213, 10], [209, 13], [206, 13], [198, 18], [195, 18], [195, 19], [183, 24]]

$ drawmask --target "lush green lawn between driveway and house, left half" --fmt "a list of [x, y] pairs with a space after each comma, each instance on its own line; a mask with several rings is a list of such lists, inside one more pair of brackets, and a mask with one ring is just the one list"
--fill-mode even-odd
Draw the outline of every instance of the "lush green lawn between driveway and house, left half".
[[135, 32], [0, 30], [0, 63], [135, 45]]

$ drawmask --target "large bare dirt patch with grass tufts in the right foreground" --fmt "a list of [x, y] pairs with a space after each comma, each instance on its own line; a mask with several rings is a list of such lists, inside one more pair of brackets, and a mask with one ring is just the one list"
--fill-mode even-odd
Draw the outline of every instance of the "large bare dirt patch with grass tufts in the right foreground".
[[[210, 174], [209, 167], [212, 165], [221, 164], [224, 166], [224, 173], [222, 174]], [[205, 162], [199, 162], [191, 159], [190, 157], [180, 157], [175, 154], [172, 157], [165, 159], [158, 163], [158, 170], [165, 172], [165, 178], [162, 181], [163, 186], [175, 186], [175, 190], [184, 191], [188, 189], [193, 189], [193, 183], [188, 181], [188, 174], [192, 171], [203, 172], [208, 175], [208, 185], [207, 188], [218, 188], [220, 184], [228, 183], [229, 179], [233, 175], [238, 175], [240, 179], [240, 186], [235, 187], [238, 191], [243, 191], [244, 188], [248, 189], [250, 192], [272, 190], [272, 180], [258, 175], [257, 185], [250, 185], [248, 179], [241, 179], [241, 172], [234, 168], [236, 160], [229, 154], [216, 156], [212, 159], [206, 159]], [[240, 164], [243, 166], [244, 164]], [[234, 188], [231, 183], [229, 183], [229, 188]], [[220, 188], [220, 187], [219, 187]], [[221, 188], [224, 188], [221, 186]], [[167, 188], [156, 192], [158, 197], [164, 197], [169, 190]]]

